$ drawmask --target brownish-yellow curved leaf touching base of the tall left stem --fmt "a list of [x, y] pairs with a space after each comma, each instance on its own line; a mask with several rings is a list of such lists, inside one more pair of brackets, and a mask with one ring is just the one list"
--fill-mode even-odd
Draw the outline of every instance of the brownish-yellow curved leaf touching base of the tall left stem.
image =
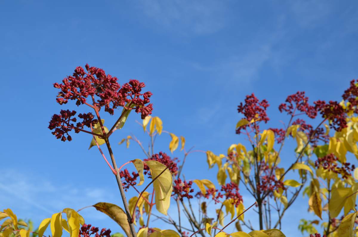
[[127, 214], [122, 210], [122, 208], [118, 207], [112, 203], [99, 202], [93, 205], [98, 211], [105, 213], [109, 216], [113, 221], [117, 222], [125, 232], [126, 236], [132, 237], [130, 227], [127, 221]]

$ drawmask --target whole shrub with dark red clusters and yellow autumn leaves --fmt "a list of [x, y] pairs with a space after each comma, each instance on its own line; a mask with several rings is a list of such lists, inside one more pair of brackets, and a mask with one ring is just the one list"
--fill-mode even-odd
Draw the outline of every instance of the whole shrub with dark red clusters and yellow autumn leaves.
[[[308, 96], [302, 91], [287, 96], [278, 110], [288, 116], [288, 122], [276, 128], [267, 125], [270, 121], [267, 115], [269, 102], [260, 101], [254, 94], [246, 96], [237, 107], [240, 120], [235, 129], [246, 142], [231, 144], [227, 152], [218, 155], [209, 150], [186, 149], [183, 136], [163, 130], [161, 119], [150, 116], [153, 112], [152, 93], [142, 92], [143, 82], [131, 79], [121, 86], [117, 81], [103, 69], [88, 64], [85, 69], [76, 67], [72, 76], [64, 78], [62, 83], [54, 83], [59, 89], [56, 101], [59, 105], [75, 101], [77, 106], [88, 106], [91, 112], [77, 114], [74, 110], [61, 110], [51, 117], [48, 128], [62, 141], [72, 141], [72, 130], [91, 135], [89, 148], [97, 147], [115, 175], [123, 209], [105, 202], [91, 207], [115, 221], [126, 236], [284, 237], [280, 231], [282, 219], [302, 193], [309, 197], [309, 211], [320, 218], [302, 219], [299, 224], [302, 233], [314, 237], [353, 237], [358, 222], [355, 205], [358, 170], [354, 165], [354, 159], [358, 158], [358, 80], [350, 82], [340, 102], [318, 100], [309, 103]], [[101, 113], [104, 111], [114, 116], [116, 109], [121, 112], [108, 129]], [[144, 154], [142, 159], [130, 160], [118, 168], [109, 138], [124, 126], [132, 110], [141, 115], [142, 122], [138, 123], [149, 138], [149, 149], [146, 150], [135, 135], [126, 136], [119, 145], [126, 141], [128, 148], [134, 141]], [[181, 145], [183, 159], [171, 157], [163, 147], [155, 151], [155, 141], [163, 134], [170, 138], [171, 153]], [[294, 139], [297, 146], [292, 158], [285, 157], [290, 164], [284, 166], [280, 163], [281, 151], [290, 139]], [[104, 144], [105, 152], [101, 149]], [[202, 165], [205, 164], [203, 154], [206, 154], [208, 168], [217, 170], [217, 180], [204, 179], [201, 174], [197, 174], [197, 179], [185, 179], [185, 160], [193, 154], [198, 159], [203, 158]], [[107, 159], [108, 155], [110, 159]], [[135, 171], [129, 171], [130, 164]], [[146, 187], [139, 190], [145, 182]], [[129, 189], [138, 195], [127, 197]], [[242, 189], [252, 195], [255, 203], [247, 203], [240, 193]], [[199, 210], [194, 211], [194, 200]], [[168, 215], [173, 203], [178, 210], [175, 219]], [[248, 208], [245, 209], [244, 204]], [[255, 210], [256, 216], [244, 216], [250, 208]], [[111, 236], [110, 229], [99, 231], [97, 227], [85, 224], [79, 214], [82, 209], [65, 208], [44, 219], [35, 232], [19, 227], [26, 223], [18, 221], [10, 209], [5, 209], [0, 212], [0, 220], [5, 219], [0, 236], [29, 237], [30, 233], [43, 236], [48, 226], [53, 237], [61, 236], [63, 230], [70, 237]], [[173, 229], [154, 227], [157, 222], [153, 222], [153, 216]], [[189, 224], [184, 224], [187, 222], [183, 222], [183, 217]], [[255, 222], [251, 221], [253, 218]], [[314, 227], [320, 222], [323, 233], [318, 233]], [[237, 232], [229, 233], [226, 228], [232, 223]], [[243, 232], [242, 227], [250, 232]]]

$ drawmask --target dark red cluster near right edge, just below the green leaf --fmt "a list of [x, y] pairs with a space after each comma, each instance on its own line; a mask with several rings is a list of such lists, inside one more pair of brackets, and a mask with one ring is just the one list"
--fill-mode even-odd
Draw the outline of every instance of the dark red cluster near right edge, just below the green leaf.
[[351, 176], [351, 171], [355, 169], [354, 165], [350, 166], [350, 163], [343, 163], [342, 167], [338, 167], [337, 164], [338, 158], [334, 154], [328, 154], [321, 158], [318, 158], [315, 161], [315, 166], [318, 168], [319, 166], [323, 167], [323, 169], [328, 171], [333, 171], [336, 174], [342, 175], [343, 179], [347, 179], [348, 176]]

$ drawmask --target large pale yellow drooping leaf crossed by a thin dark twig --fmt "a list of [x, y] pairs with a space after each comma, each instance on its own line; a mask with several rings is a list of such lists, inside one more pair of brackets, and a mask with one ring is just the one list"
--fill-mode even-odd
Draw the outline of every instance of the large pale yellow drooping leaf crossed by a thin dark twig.
[[[158, 176], [166, 166], [159, 163], [156, 160], [145, 161], [146, 165], [150, 168], [150, 174], [152, 179]], [[173, 177], [169, 169], [166, 169], [163, 174], [161, 174], [153, 182], [153, 187], [155, 190], [155, 207], [156, 209], [166, 215], [169, 205], [170, 205], [170, 196], [171, 191], [173, 190]]]

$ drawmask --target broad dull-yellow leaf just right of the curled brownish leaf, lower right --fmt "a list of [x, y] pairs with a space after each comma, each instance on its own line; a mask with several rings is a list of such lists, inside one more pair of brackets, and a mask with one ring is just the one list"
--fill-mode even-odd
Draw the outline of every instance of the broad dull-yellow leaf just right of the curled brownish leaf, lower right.
[[328, 204], [331, 218], [339, 215], [350, 192], [352, 192], [350, 188], [335, 188], [332, 190], [332, 197]]

